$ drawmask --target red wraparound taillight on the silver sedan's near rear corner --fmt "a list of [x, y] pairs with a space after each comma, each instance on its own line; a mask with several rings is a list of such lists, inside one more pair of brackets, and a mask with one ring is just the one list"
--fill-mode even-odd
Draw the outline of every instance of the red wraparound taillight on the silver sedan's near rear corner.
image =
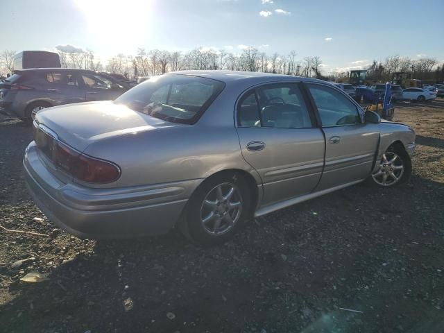
[[60, 169], [84, 182], [103, 184], [114, 182], [120, 176], [120, 169], [116, 164], [83, 155], [61, 142], [56, 142], [53, 162]]

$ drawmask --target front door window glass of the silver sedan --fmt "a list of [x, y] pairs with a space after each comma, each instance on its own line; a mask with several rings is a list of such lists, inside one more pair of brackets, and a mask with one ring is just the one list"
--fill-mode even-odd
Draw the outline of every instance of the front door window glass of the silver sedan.
[[307, 85], [323, 127], [361, 123], [357, 107], [346, 96], [323, 85]]

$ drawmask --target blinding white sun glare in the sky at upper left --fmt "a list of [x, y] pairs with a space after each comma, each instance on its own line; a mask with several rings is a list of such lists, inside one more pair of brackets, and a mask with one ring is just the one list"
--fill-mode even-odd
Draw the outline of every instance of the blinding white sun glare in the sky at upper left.
[[150, 0], [76, 0], [85, 13], [96, 44], [115, 44], [119, 53], [133, 52], [150, 36]]

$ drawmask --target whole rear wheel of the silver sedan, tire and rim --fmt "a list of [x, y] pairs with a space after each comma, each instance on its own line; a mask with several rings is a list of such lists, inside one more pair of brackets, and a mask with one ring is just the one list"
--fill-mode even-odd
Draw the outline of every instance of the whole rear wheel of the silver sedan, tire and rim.
[[191, 196], [182, 232], [196, 244], [228, 241], [250, 216], [248, 184], [236, 173], [206, 180]]

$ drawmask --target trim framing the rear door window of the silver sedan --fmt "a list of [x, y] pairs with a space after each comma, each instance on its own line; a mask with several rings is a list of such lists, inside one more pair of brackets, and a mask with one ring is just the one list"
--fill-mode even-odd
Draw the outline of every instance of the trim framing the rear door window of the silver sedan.
[[[257, 89], [261, 89], [261, 88], [267, 87], [267, 86], [273, 87], [273, 86], [282, 86], [282, 85], [296, 85], [296, 87], [298, 87], [300, 94], [302, 95], [302, 100], [305, 103], [305, 106], [307, 108], [307, 112], [309, 114], [309, 118], [311, 121], [311, 127], [301, 127], [301, 128], [291, 128], [291, 127], [284, 128], [284, 127], [282, 127], [282, 128], [280, 128], [280, 127], [263, 126], [262, 113], [260, 112], [261, 103], [259, 102], [259, 95], [258, 95]], [[261, 126], [259, 126], [259, 127], [241, 126], [240, 125], [239, 106], [240, 106], [240, 103], [244, 101], [244, 97], [246, 95], [250, 94], [250, 92], [255, 93], [257, 107], [259, 108], [258, 109], [259, 120], [261, 121]], [[241, 94], [239, 94], [239, 96], [237, 96], [236, 103], [234, 103], [234, 126], [236, 128], [275, 128], [277, 130], [307, 130], [307, 129], [319, 127], [318, 121], [316, 119], [316, 113], [314, 112], [312, 105], [307, 97], [307, 92], [305, 92], [305, 87], [302, 86], [302, 81], [300, 81], [300, 80], [279, 80], [279, 81], [271, 81], [271, 82], [267, 82], [267, 83], [258, 83], [257, 85], [253, 85], [253, 86], [245, 89], [243, 92], [241, 92]]]

